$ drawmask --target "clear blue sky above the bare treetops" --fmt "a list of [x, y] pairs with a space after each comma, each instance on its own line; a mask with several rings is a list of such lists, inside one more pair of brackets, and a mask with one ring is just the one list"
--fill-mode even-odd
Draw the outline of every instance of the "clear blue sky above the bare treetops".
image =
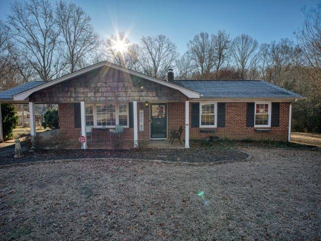
[[[0, 0], [1, 20], [10, 13], [12, 2]], [[315, 8], [321, 0], [74, 2], [91, 16], [103, 38], [121, 31], [139, 43], [141, 36], [165, 34], [184, 53], [186, 43], [201, 31], [212, 34], [225, 29], [231, 37], [246, 33], [259, 43], [291, 38], [302, 26], [302, 8]]]

